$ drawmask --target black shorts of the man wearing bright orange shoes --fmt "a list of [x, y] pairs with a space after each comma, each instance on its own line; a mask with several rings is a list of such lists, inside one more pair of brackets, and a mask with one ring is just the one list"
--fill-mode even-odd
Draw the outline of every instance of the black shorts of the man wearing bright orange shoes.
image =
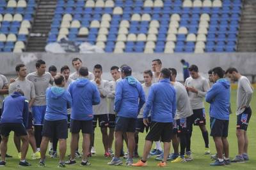
[[173, 135], [173, 124], [163, 122], [150, 122], [150, 131], [146, 136], [148, 141], [170, 142]]

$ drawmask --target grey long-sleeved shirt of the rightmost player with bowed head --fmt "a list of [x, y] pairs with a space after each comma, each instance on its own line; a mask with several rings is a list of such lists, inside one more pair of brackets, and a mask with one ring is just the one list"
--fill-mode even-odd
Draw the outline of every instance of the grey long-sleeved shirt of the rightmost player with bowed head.
[[252, 100], [252, 94], [253, 94], [253, 87], [246, 78], [246, 76], [241, 76], [238, 80], [238, 87], [237, 87], [237, 99], [236, 99], [236, 106], [237, 106], [237, 111], [236, 115], [240, 115], [243, 113], [244, 108], [242, 109], [243, 106], [249, 107], [250, 102]]

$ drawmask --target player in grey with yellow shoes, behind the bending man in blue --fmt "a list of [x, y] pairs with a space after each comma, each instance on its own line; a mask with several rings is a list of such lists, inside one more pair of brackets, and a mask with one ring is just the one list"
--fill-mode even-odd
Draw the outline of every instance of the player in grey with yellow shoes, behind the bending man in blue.
[[[9, 93], [12, 94], [15, 92], [15, 90], [20, 89], [22, 92], [24, 92], [24, 97], [28, 99], [29, 101], [29, 117], [28, 117], [28, 127], [26, 128], [26, 131], [28, 132], [29, 136], [29, 144], [31, 145], [31, 148], [33, 150], [32, 159], [40, 159], [40, 152], [36, 150], [36, 140], [33, 132], [33, 118], [31, 113], [31, 106], [33, 105], [35, 101], [35, 86], [34, 84], [26, 79], [27, 76], [27, 68], [24, 64], [17, 64], [15, 67], [15, 71], [18, 74], [18, 78], [15, 79], [13, 83], [10, 84], [9, 87]], [[19, 152], [19, 158], [21, 157], [20, 153], [20, 137], [14, 135], [13, 140], [15, 143], [15, 146]]]

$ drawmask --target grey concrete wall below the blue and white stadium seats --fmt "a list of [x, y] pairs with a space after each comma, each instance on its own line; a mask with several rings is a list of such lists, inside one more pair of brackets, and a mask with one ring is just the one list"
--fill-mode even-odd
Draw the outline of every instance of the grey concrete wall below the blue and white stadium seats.
[[[196, 64], [200, 73], [207, 76], [209, 69], [221, 66], [223, 69], [236, 67], [250, 80], [256, 75], [256, 53], [1, 53], [0, 73], [6, 76], [15, 76], [15, 65], [23, 62], [28, 68], [28, 73], [35, 71], [35, 62], [38, 59], [45, 60], [47, 67], [55, 65], [58, 69], [68, 65], [71, 71], [72, 59], [79, 57], [83, 60], [83, 66], [92, 71], [95, 64], [103, 67], [103, 78], [111, 80], [109, 69], [111, 66], [127, 64], [132, 67], [132, 74], [138, 80], [142, 80], [145, 69], [151, 68], [153, 59], [161, 59], [163, 67], [174, 67], [178, 71], [177, 80], [182, 81], [182, 64], [180, 59], [185, 59], [189, 64]], [[59, 71], [59, 70], [58, 70]]]

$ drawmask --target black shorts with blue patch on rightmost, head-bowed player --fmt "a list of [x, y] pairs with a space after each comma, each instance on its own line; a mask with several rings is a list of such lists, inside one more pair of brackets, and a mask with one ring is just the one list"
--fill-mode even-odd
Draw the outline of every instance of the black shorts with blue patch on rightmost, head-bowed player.
[[246, 108], [243, 113], [240, 115], [237, 115], [237, 124], [236, 129], [242, 129], [244, 131], [247, 131], [247, 127], [250, 121], [250, 118], [252, 116], [252, 110], [251, 108]]

